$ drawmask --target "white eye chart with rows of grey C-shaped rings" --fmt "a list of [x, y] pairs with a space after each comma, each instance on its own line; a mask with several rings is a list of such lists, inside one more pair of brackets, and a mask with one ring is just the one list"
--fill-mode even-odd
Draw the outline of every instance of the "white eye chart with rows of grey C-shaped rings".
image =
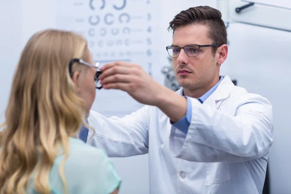
[[[57, 27], [84, 35], [99, 66], [127, 61], [141, 65], [155, 79], [161, 76], [161, 65], [154, 66], [161, 52], [159, 12], [157, 0], [60, 0]], [[101, 89], [92, 109], [123, 116], [142, 106], [123, 91]]]

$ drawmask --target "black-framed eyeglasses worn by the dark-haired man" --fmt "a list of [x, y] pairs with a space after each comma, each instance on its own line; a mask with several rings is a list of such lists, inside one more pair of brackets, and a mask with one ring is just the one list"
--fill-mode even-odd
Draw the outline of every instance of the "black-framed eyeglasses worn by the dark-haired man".
[[221, 45], [186, 45], [185, 47], [178, 47], [178, 46], [167, 46], [166, 49], [168, 54], [172, 58], [177, 58], [181, 49], [184, 49], [185, 53], [189, 57], [197, 57], [200, 52], [200, 48], [203, 47], [220, 47]]

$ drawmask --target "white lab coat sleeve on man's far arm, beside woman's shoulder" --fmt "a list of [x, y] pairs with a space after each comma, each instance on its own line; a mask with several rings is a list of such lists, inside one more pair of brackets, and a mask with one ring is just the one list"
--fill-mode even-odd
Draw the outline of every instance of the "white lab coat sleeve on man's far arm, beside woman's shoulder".
[[129, 157], [148, 153], [148, 127], [145, 106], [123, 118], [107, 118], [90, 111], [87, 144], [106, 151], [109, 157]]

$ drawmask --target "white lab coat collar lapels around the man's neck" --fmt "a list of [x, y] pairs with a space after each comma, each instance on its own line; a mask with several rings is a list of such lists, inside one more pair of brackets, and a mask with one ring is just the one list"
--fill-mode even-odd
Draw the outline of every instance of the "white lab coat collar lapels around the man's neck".
[[[222, 100], [229, 97], [230, 91], [234, 87], [233, 82], [230, 80], [229, 76], [224, 76], [224, 79], [220, 82], [217, 89], [210, 95], [211, 100]], [[181, 87], [176, 93], [183, 95], [183, 88]], [[208, 101], [208, 99], [206, 100]]]

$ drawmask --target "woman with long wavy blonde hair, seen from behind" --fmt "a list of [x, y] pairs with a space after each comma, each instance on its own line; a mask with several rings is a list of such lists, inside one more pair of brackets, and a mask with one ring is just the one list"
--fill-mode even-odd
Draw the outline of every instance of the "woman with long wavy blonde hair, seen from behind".
[[0, 134], [0, 194], [117, 194], [121, 180], [106, 154], [78, 139], [99, 73], [83, 37], [31, 37]]

